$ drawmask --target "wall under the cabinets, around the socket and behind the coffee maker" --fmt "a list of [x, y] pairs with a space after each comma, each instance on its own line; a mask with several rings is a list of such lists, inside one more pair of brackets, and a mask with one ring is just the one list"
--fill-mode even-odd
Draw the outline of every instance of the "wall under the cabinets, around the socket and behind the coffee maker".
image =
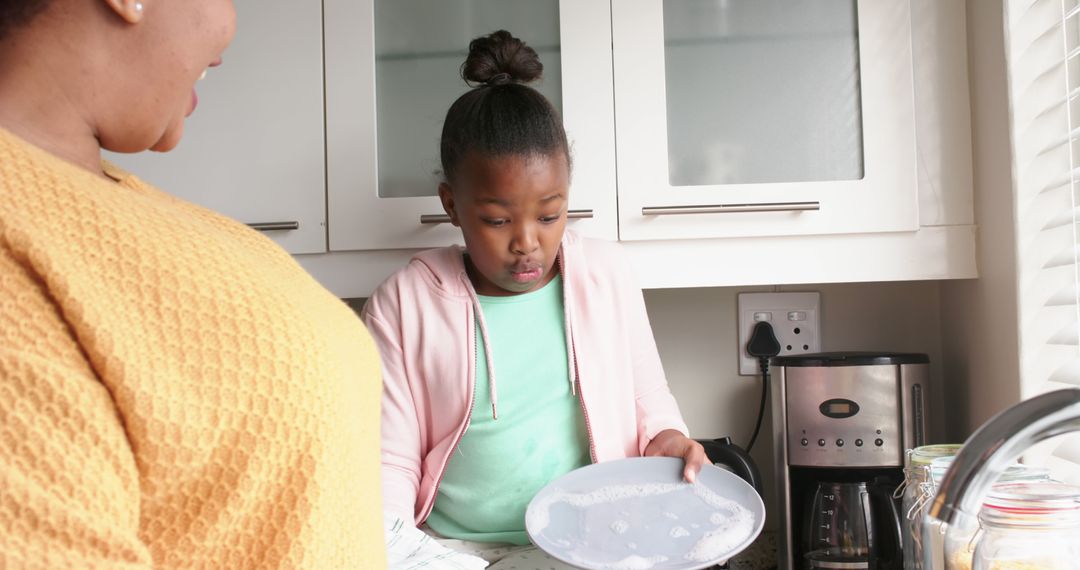
[[[928, 353], [933, 406], [930, 436], [932, 440], [942, 440], [944, 412], [934, 406], [944, 392], [937, 282], [807, 285], [782, 289], [821, 293], [823, 350]], [[754, 430], [761, 389], [758, 379], [738, 374], [735, 318], [737, 295], [755, 290], [772, 288], [645, 293], [667, 380], [694, 437], [730, 435], [737, 444], [745, 446]], [[769, 520], [774, 521], [771, 438], [771, 418], [767, 415], [752, 454], [765, 478]]]

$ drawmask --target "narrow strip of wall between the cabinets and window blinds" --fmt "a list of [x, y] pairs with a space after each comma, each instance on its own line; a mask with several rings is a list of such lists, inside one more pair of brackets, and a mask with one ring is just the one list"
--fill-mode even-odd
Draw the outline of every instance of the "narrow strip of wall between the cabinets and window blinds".
[[978, 280], [942, 283], [947, 430], [964, 437], [1020, 401], [1016, 255], [1000, 0], [968, 1]]

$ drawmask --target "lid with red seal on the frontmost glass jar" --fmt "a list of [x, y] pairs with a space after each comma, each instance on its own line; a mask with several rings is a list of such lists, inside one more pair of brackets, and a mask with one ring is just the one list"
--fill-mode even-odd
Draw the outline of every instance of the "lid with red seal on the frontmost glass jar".
[[1056, 481], [995, 485], [983, 503], [984, 522], [1008, 526], [1080, 524], [1080, 487]]

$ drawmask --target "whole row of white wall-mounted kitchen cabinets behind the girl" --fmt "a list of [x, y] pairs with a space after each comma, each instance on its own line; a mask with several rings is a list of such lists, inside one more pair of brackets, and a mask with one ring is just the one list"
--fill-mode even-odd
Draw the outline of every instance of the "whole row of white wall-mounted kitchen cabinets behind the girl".
[[[545, 65], [570, 227], [622, 241], [644, 287], [977, 276], [963, 0], [237, 9], [179, 148], [114, 160], [244, 222], [295, 222], [268, 234], [342, 297], [460, 242], [438, 137], [468, 41], [498, 28]], [[727, 212], [762, 203], [780, 211]]]

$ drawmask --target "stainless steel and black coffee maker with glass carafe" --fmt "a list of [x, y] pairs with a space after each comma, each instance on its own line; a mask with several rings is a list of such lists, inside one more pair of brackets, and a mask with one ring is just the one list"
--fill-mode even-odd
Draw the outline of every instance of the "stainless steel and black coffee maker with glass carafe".
[[926, 439], [924, 354], [770, 361], [781, 570], [900, 570], [907, 449]]

